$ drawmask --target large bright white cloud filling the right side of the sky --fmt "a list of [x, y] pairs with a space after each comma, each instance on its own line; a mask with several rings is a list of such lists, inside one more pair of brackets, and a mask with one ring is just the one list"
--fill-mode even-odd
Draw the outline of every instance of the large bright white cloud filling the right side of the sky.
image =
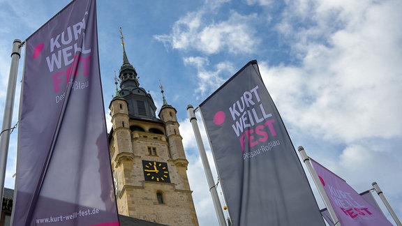
[[357, 19], [350, 20], [328, 36], [329, 46], [309, 37], [308, 30], [297, 33], [305, 36], [299, 43], [309, 43], [297, 50], [303, 54], [301, 67], [262, 64], [265, 82], [292, 124], [343, 142], [401, 137], [402, 67], [397, 59], [402, 52], [397, 50], [402, 49], [402, 32], [388, 22], [402, 21], [402, 16], [392, 3], [355, 15], [359, 27], [353, 24]]

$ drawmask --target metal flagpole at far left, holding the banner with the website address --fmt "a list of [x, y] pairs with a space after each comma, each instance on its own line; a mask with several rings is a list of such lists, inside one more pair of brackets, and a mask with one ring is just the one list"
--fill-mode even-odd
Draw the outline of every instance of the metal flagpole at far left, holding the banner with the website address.
[[[10, 75], [8, 77], [8, 87], [6, 95], [6, 104], [3, 113], [3, 125], [1, 126], [0, 136], [0, 194], [3, 198], [4, 180], [6, 178], [6, 166], [8, 155], [8, 144], [10, 144], [10, 127], [13, 121], [13, 107], [15, 99], [15, 87], [17, 86], [17, 73], [18, 63], [21, 57], [21, 40], [15, 39], [13, 41], [13, 50], [11, 51], [11, 65]], [[0, 210], [2, 209], [3, 202], [0, 202]]]

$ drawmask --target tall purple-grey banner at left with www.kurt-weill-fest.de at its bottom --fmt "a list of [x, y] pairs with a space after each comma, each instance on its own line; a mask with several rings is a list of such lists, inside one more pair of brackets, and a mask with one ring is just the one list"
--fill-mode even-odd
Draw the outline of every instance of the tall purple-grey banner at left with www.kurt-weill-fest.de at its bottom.
[[13, 225], [119, 225], [96, 23], [72, 1], [27, 38]]

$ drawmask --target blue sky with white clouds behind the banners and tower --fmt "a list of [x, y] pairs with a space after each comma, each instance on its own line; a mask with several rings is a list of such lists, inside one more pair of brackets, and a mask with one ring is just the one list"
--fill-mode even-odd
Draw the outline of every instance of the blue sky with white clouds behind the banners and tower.
[[[0, 0], [1, 110], [13, 40], [27, 38], [69, 2]], [[295, 147], [303, 145], [357, 192], [377, 181], [402, 218], [402, 1], [100, 0], [97, 7], [105, 114], [122, 63], [121, 27], [140, 86], [160, 107], [161, 80], [166, 100], [177, 109], [200, 225], [217, 220], [186, 106], [200, 104], [253, 59]], [[19, 96], [20, 82], [13, 125]], [[16, 140], [15, 131], [8, 188], [14, 184]]]

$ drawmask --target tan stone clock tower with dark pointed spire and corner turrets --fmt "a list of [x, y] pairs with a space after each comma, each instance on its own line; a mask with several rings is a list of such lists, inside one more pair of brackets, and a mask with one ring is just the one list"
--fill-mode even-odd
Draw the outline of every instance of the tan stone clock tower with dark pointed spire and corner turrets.
[[[120, 30], [121, 31], [121, 30]], [[123, 45], [120, 89], [110, 102], [110, 157], [119, 214], [163, 225], [198, 225], [177, 111], [165, 100], [156, 116]]]

